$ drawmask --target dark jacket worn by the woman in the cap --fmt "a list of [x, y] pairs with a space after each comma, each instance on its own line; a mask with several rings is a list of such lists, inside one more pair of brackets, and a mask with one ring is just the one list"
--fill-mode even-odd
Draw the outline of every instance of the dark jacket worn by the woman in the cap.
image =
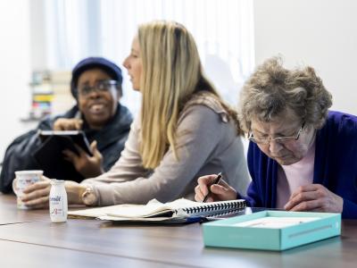
[[[33, 153], [41, 145], [37, 130], [52, 130], [54, 121], [58, 118], [74, 118], [77, 114], [79, 114], [79, 109], [75, 105], [67, 113], [40, 121], [36, 130], [29, 130], [29, 132], [12, 141], [12, 144], [6, 149], [0, 174], [0, 190], [2, 192], [9, 193], [12, 191], [12, 180], [15, 177], [15, 171], [41, 169], [41, 166], [33, 156]], [[83, 131], [86, 133], [89, 143], [93, 140], [97, 141], [97, 148], [103, 155], [105, 172], [119, 159], [128, 138], [131, 122], [131, 113], [123, 105], [118, 105], [117, 112], [102, 130], [89, 129], [87, 122], [84, 120]], [[79, 181], [83, 179], [79, 178]]]

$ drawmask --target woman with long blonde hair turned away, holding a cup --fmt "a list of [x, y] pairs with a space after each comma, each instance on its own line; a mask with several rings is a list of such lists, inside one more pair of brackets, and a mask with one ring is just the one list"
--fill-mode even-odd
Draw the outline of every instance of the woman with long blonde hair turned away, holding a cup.
[[[145, 204], [194, 198], [198, 177], [222, 172], [241, 191], [248, 184], [237, 114], [205, 78], [195, 40], [179, 23], [141, 25], [123, 65], [142, 93], [120, 160], [82, 183], [66, 181], [70, 203]], [[48, 202], [48, 181], [28, 188], [26, 205]]]

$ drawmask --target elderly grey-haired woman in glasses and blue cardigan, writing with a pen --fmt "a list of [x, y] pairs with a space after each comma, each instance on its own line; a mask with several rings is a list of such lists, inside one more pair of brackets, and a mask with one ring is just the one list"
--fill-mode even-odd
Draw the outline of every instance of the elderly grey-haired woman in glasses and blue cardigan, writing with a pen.
[[[240, 98], [241, 126], [251, 141], [248, 204], [357, 218], [357, 117], [328, 111], [331, 95], [315, 71], [286, 70], [271, 58]], [[196, 200], [214, 178], [198, 179]], [[211, 190], [208, 201], [242, 198], [225, 181]]]

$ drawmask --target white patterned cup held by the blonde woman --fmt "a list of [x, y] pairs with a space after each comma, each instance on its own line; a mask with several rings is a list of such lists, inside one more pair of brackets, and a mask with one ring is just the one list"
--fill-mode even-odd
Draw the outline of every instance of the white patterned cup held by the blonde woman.
[[[17, 208], [28, 209], [26, 205], [21, 201], [23, 196], [23, 190], [29, 185], [41, 180], [43, 171], [21, 171], [15, 172], [16, 180], [12, 181], [12, 189], [17, 197]], [[14, 183], [16, 181], [16, 183]], [[15, 185], [16, 184], [16, 185]]]

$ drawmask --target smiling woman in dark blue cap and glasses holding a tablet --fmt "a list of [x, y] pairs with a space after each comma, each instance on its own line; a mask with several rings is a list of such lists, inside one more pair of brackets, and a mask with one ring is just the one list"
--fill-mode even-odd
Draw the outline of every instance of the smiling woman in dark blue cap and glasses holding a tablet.
[[[93, 156], [79, 148], [79, 155], [70, 150], [63, 157], [73, 163], [81, 181], [108, 171], [120, 157], [132, 122], [129, 110], [120, 105], [120, 68], [101, 57], [89, 57], [72, 71], [71, 94], [77, 100], [70, 111], [41, 121], [36, 130], [16, 138], [7, 148], [0, 177], [1, 191], [10, 192], [14, 172], [42, 169], [33, 157], [41, 142], [37, 130], [83, 130], [91, 143]], [[46, 172], [45, 172], [46, 174]]]

